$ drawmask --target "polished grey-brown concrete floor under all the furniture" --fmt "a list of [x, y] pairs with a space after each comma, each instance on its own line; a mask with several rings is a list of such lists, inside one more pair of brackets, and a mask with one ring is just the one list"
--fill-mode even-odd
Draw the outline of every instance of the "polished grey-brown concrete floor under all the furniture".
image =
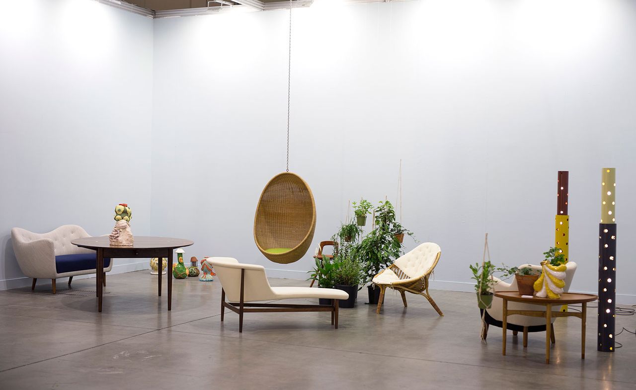
[[[165, 275], [164, 275], [165, 278]], [[272, 279], [274, 286], [307, 282]], [[365, 305], [340, 310], [340, 329], [328, 313], [249, 313], [219, 321], [221, 285], [175, 280], [172, 312], [156, 296], [148, 271], [109, 275], [97, 313], [95, 279], [50, 293], [0, 291], [0, 389], [635, 389], [636, 338], [618, 335], [615, 353], [595, 348], [596, 312], [588, 310], [586, 359], [581, 323], [559, 318], [552, 364], [544, 364], [545, 333], [501, 329], [479, 338], [473, 294], [432, 291], [439, 317], [422, 296], [387, 293], [382, 314]], [[362, 292], [362, 291], [361, 291]], [[302, 300], [299, 300], [300, 302]], [[636, 327], [636, 316], [617, 317]]]

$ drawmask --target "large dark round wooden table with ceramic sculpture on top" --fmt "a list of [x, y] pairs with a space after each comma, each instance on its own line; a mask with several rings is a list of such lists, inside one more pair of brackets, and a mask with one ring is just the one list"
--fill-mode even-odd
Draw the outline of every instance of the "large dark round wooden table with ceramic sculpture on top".
[[[111, 245], [107, 236], [84, 237], [71, 241], [71, 244], [93, 249], [97, 252], [97, 311], [102, 311], [104, 296], [104, 258], [168, 258], [168, 310], [172, 309], [172, 251], [178, 247], [191, 246], [191, 240], [169, 237], [146, 237], [135, 235], [132, 246]], [[161, 262], [160, 262], [161, 264]], [[158, 275], [159, 296], [161, 296], [162, 273]]]

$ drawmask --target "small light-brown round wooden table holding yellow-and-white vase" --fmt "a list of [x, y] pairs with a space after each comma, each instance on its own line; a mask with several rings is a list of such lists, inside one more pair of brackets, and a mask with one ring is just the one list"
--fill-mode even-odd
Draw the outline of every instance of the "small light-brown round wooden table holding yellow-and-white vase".
[[[598, 296], [592, 294], [581, 293], [563, 293], [559, 299], [551, 298], [539, 298], [533, 296], [532, 298], [522, 298], [518, 291], [500, 291], [495, 293], [495, 296], [504, 300], [504, 312], [503, 312], [503, 354], [506, 355], [506, 328], [508, 328], [508, 316], [513, 314], [520, 314], [522, 316], [530, 317], [545, 317], [546, 318], [546, 363], [550, 364], [550, 331], [552, 324], [552, 317], [579, 317], [581, 319], [581, 359], [585, 359], [585, 316], [587, 313], [587, 303], [598, 299]], [[508, 301], [531, 303], [532, 305], [543, 305], [546, 310], [508, 310]], [[581, 303], [581, 312], [561, 312], [552, 311], [552, 305], [572, 305], [574, 303]]]

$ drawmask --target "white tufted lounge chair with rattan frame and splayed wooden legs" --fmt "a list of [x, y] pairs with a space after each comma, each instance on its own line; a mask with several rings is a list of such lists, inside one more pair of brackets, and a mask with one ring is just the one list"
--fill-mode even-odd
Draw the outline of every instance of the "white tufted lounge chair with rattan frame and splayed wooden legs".
[[400, 292], [404, 307], [406, 307], [406, 296], [404, 293], [418, 294], [424, 296], [440, 316], [444, 314], [439, 310], [438, 305], [429, 295], [429, 276], [441, 256], [441, 249], [434, 242], [424, 242], [415, 249], [398, 258], [393, 264], [382, 270], [373, 277], [373, 283], [380, 287], [380, 300], [378, 300], [377, 313], [382, 309], [384, 293], [387, 288], [392, 288]]

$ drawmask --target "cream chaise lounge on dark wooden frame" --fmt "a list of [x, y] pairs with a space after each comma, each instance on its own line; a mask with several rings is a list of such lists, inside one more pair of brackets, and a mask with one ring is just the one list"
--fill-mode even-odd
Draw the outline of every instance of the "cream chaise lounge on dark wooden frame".
[[[331, 312], [331, 324], [338, 329], [338, 300], [349, 298], [339, 289], [309, 287], [272, 287], [265, 267], [242, 264], [231, 257], [212, 257], [214, 272], [221, 281], [221, 321], [225, 308], [239, 314], [239, 332], [243, 331], [243, 314], [251, 312]], [[225, 297], [227, 296], [228, 302]], [[331, 305], [294, 305], [289, 303], [252, 303], [291, 298], [327, 298]]]

